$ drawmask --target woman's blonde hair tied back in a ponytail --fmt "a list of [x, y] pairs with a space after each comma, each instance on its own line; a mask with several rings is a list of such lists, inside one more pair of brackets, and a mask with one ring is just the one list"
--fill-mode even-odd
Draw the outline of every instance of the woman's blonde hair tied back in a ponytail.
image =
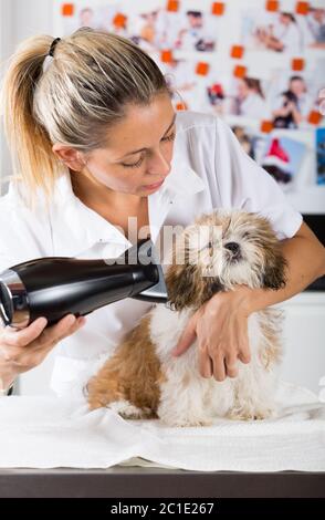
[[52, 150], [54, 143], [85, 153], [104, 146], [127, 104], [146, 105], [169, 93], [158, 65], [125, 38], [78, 29], [49, 58], [52, 42], [49, 35], [22, 42], [2, 86], [14, 177], [32, 196], [44, 189], [46, 199], [57, 176], [67, 171]]

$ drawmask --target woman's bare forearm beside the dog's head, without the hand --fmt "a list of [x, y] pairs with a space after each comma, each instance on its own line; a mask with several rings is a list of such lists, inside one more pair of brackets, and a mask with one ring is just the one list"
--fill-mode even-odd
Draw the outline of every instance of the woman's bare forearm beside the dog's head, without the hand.
[[249, 313], [283, 302], [302, 292], [317, 278], [325, 274], [325, 249], [317, 240], [293, 237], [282, 242], [287, 262], [286, 284], [279, 290], [241, 287], [243, 303]]

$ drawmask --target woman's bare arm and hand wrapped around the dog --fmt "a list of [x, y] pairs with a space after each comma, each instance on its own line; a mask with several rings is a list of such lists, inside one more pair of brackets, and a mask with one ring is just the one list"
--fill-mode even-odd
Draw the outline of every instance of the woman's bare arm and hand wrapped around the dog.
[[217, 293], [191, 318], [174, 355], [181, 355], [198, 340], [199, 370], [203, 377], [223, 381], [238, 375], [238, 358], [250, 362], [248, 318], [251, 313], [287, 300], [325, 274], [325, 248], [303, 222], [293, 238], [283, 240], [287, 261], [284, 289], [250, 289]]

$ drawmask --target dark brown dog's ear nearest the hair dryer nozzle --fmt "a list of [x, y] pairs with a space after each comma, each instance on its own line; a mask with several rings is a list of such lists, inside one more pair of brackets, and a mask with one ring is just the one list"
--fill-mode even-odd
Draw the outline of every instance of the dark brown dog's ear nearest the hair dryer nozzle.
[[176, 311], [197, 303], [196, 266], [170, 266], [165, 279], [168, 301]]

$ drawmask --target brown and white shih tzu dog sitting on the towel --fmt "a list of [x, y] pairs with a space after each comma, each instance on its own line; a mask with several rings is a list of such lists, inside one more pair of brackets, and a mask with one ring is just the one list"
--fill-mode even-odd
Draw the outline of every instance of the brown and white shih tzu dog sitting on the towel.
[[249, 316], [251, 362], [239, 362], [235, 378], [202, 377], [197, 342], [179, 357], [171, 351], [189, 319], [213, 294], [238, 284], [277, 290], [285, 284], [285, 269], [268, 219], [239, 210], [201, 216], [170, 249], [165, 273], [169, 305], [150, 310], [90, 379], [90, 408], [109, 407], [125, 418], [159, 418], [169, 426], [274, 415], [280, 311], [268, 308]]

